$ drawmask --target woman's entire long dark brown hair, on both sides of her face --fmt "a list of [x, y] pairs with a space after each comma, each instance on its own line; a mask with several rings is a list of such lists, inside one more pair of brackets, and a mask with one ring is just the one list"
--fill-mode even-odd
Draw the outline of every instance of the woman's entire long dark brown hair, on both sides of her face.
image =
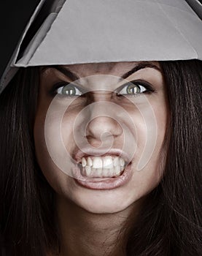
[[[202, 61], [160, 61], [171, 112], [164, 176], [128, 236], [128, 256], [202, 255]], [[60, 248], [55, 192], [34, 153], [39, 67], [20, 69], [0, 95], [0, 234], [6, 255]]]

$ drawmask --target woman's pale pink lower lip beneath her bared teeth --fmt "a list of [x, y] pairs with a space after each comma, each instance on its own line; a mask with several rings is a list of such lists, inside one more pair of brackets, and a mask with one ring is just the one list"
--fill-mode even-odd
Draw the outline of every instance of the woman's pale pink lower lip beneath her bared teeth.
[[115, 189], [127, 184], [128, 181], [131, 180], [132, 174], [131, 163], [125, 166], [121, 176], [115, 178], [88, 178], [81, 175], [79, 166], [77, 166], [74, 169], [74, 181], [76, 184], [79, 184], [79, 186], [87, 189]]

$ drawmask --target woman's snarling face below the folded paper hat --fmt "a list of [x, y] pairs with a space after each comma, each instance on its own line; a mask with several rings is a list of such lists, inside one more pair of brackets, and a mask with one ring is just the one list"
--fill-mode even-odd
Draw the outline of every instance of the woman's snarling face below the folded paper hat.
[[158, 185], [167, 125], [158, 62], [41, 69], [36, 157], [58, 196], [87, 211], [123, 211]]

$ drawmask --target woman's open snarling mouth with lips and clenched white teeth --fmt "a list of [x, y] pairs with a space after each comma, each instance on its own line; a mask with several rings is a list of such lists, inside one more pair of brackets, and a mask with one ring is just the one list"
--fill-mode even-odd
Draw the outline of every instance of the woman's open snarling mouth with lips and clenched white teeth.
[[133, 176], [131, 162], [117, 154], [95, 157], [85, 155], [74, 169], [74, 181], [88, 189], [115, 189]]

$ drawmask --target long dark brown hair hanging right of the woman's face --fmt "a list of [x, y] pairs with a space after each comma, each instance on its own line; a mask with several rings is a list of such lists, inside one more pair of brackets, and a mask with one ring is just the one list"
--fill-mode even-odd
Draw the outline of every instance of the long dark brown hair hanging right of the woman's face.
[[141, 209], [127, 255], [202, 255], [202, 61], [162, 61], [170, 106], [164, 176]]

